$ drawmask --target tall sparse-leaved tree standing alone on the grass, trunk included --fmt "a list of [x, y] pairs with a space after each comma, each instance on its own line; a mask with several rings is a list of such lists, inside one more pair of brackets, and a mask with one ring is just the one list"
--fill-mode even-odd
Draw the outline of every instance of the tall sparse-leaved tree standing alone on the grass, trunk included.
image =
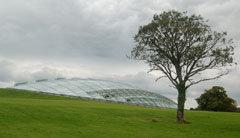
[[[185, 122], [184, 104], [190, 86], [229, 72], [226, 66], [233, 64], [234, 48], [226, 36], [226, 32], [212, 31], [202, 16], [175, 10], [155, 14], [149, 24], [140, 26], [131, 57], [149, 64], [149, 72], [161, 71], [158, 79], [167, 77], [177, 89], [177, 122]], [[201, 77], [207, 70], [213, 76]]]

